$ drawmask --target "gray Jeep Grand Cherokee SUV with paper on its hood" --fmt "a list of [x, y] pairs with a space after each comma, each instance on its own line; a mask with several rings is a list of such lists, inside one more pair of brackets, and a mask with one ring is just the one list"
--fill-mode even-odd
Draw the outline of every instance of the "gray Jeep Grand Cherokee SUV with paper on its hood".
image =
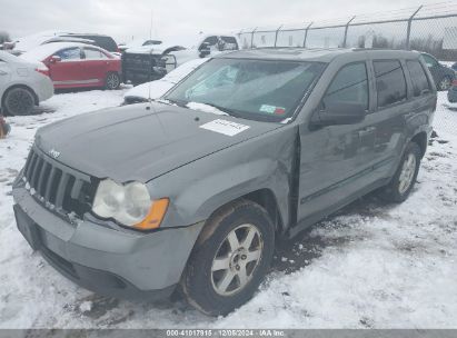
[[408, 197], [436, 100], [417, 52], [223, 54], [159, 101], [40, 129], [13, 186], [18, 228], [88, 289], [179, 286], [225, 315], [256, 291], [276, 239], [375, 189]]

